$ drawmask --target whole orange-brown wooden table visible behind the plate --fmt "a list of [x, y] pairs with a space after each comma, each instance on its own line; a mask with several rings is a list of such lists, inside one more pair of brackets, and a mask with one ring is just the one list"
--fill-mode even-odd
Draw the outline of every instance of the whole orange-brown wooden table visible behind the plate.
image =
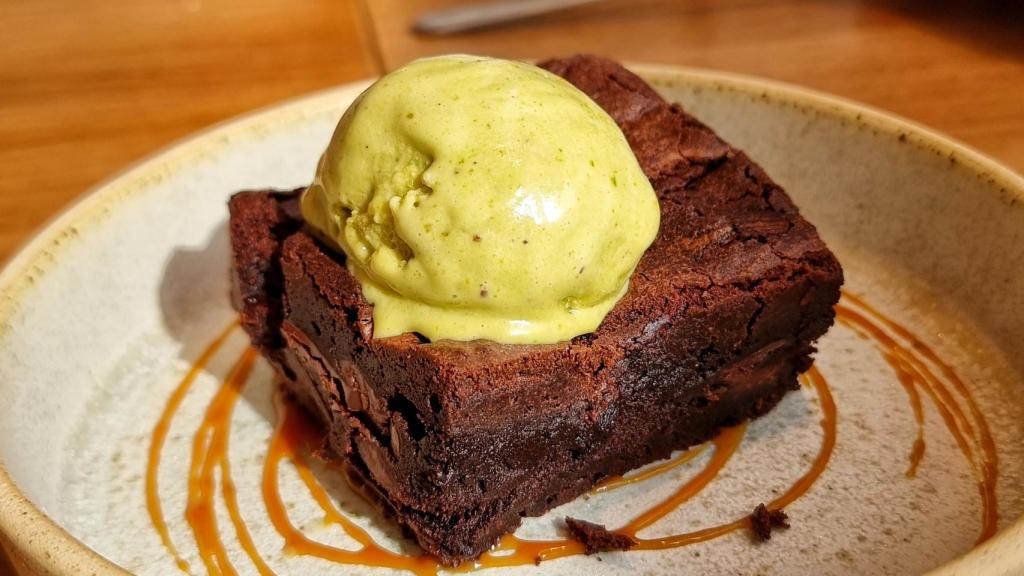
[[3, 0], [0, 261], [71, 199], [189, 132], [451, 51], [589, 51], [794, 82], [1024, 171], [1015, 0], [608, 0], [455, 37], [409, 32], [415, 14], [456, 3]]

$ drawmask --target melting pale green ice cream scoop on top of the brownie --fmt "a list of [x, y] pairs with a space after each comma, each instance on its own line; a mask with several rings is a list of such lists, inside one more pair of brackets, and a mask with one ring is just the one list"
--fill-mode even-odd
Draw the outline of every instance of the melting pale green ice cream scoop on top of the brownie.
[[374, 336], [548, 343], [594, 331], [657, 233], [610, 117], [566, 81], [413, 61], [345, 113], [302, 198], [374, 304]]

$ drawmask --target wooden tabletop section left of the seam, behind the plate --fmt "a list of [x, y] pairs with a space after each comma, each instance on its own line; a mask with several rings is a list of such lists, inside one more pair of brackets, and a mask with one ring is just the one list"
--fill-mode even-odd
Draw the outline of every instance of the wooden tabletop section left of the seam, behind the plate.
[[377, 74], [355, 0], [0, 0], [0, 261], [190, 132]]

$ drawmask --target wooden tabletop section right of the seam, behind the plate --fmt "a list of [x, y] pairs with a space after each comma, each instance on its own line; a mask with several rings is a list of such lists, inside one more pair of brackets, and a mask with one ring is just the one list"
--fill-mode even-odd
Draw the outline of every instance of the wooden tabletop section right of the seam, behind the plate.
[[606, 0], [493, 31], [409, 33], [422, 11], [460, 3], [371, 1], [385, 65], [584, 51], [753, 74], [895, 112], [1024, 171], [1019, 0]]

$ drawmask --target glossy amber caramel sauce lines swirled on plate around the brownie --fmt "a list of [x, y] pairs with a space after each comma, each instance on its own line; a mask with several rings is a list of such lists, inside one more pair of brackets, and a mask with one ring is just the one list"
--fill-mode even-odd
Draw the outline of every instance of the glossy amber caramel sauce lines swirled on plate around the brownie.
[[[909, 466], [905, 475], [912, 478], [925, 456], [923, 392], [939, 411], [943, 422], [972, 466], [978, 482], [983, 508], [982, 532], [978, 541], [987, 539], [995, 532], [997, 524], [995, 443], [969, 388], [948, 364], [942, 362], [932, 348], [905, 328], [884, 317], [852, 294], [844, 293], [844, 298], [851, 305], [847, 305], [845, 302], [837, 305], [838, 320], [876, 344], [882, 357], [895, 371], [900, 384], [907, 394], [916, 433], [909, 452]], [[168, 535], [157, 490], [160, 455], [170, 427], [170, 421], [177, 412], [184, 396], [198, 374], [203, 371], [237, 326], [238, 323], [234, 323], [228, 327], [199, 357], [193, 369], [182, 378], [168, 400], [161, 419], [153, 433], [146, 469], [146, 504], [161, 540], [175, 559], [178, 567], [184, 572], [188, 572], [188, 565], [180, 557]], [[210, 574], [233, 575], [237, 573], [227, 558], [217, 527], [215, 471], [218, 469], [220, 471], [221, 498], [234, 527], [239, 544], [261, 576], [273, 574], [255, 547], [239, 510], [227, 458], [233, 406], [238, 402], [257, 357], [254, 349], [247, 348], [231, 367], [221, 387], [210, 402], [193, 443], [193, 460], [188, 478], [188, 505], [185, 518], [195, 535], [200, 558]], [[805, 374], [801, 375], [801, 382], [812, 387], [819, 398], [822, 414], [820, 421], [821, 446], [810, 468], [797, 479], [782, 495], [767, 504], [769, 509], [781, 509], [806, 494], [827, 467], [836, 445], [838, 412], [825, 378], [817, 368], [812, 366]], [[403, 554], [383, 547], [366, 530], [338, 509], [327, 490], [308, 466], [308, 455], [313, 447], [323, 444], [324, 431], [318, 429], [300, 408], [293, 403], [286, 402], [280, 390], [274, 396], [274, 408], [278, 421], [264, 460], [261, 488], [270, 524], [283, 538], [286, 553], [310, 556], [338, 564], [406, 570], [418, 576], [436, 575], [441, 567], [434, 559], [423, 554]], [[726, 524], [683, 534], [655, 538], [637, 536], [642, 530], [678, 509], [679, 506], [699, 494], [714, 482], [735, 454], [743, 440], [745, 429], [745, 424], [724, 428], [713, 441], [683, 452], [667, 462], [625, 478], [608, 479], [597, 486], [592, 491], [593, 494], [602, 494], [643, 482], [682, 466], [702, 455], [710, 447], [713, 448], [711, 457], [700, 471], [686, 481], [664, 501], [644, 510], [614, 532], [633, 538], [637, 542], [637, 549], [665, 549], [711, 540], [750, 528], [751, 519], [745, 516]], [[358, 544], [358, 548], [340, 548], [317, 542], [292, 524], [280, 490], [281, 466], [285, 461], [294, 467], [309, 495], [319, 506], [324, 513], [325, 524], [338, 526], [345, 535]], [[515, 535], [508, 535], [475, 563], [451, 570], [469, 572], [483, 568], [522, 566], [580, 554], [585, 551], [582, 543], [570, 539], [526, 540]]]

